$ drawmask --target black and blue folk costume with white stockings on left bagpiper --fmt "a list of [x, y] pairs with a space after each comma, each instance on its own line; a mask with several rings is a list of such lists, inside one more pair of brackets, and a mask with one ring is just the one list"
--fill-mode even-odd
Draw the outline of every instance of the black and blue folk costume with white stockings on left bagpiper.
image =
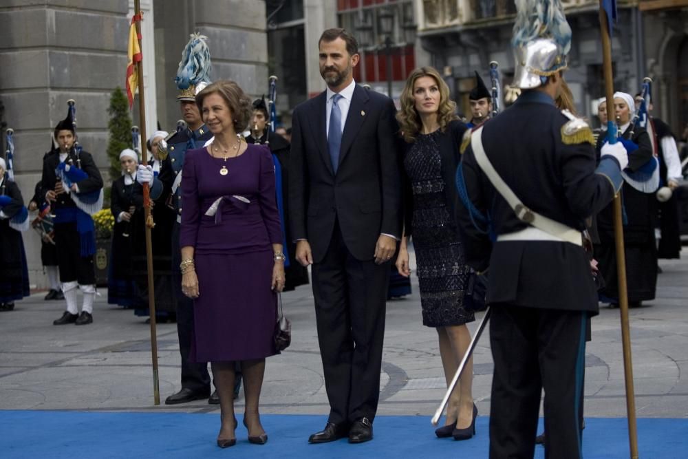
[[[55, 137], [63, 130], [74, 134], [71, 113], [55, 127]], [[91, 153], [81, 151], [76, 145], [69, 151], [53, 149], [43, 158], [43, 196], [48, 191], [54, 191], [57, 182], [62, 182], [63, 193], [56, 196], [51, 207], [55, 215], [54, 231], [60, 281], [67, 304], [63, 316], [53, 323], [84, 325], [93, 321], [93, 302], [96, 297], [93, 255], [96, 251], [96, 232], [91, 215], [103, 207], [103, 178], [100, 177]], [[76, 185], [76, 191], [72, 190], [73, 184]], [[76, 301], [77, 287], [83, 293], [81, 312]]]

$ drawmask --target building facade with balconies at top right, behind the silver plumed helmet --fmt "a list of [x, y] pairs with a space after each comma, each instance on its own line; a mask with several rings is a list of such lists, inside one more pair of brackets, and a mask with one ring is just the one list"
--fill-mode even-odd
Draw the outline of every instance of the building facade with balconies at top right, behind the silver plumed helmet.
[[[562, 3], [573, 31], [566, 81], [579, 114], [596, 121], [593, 102], [603, 96], [604, 87], [599, 1]], [[680, 101], [685, 101], [686, 83], [679, 81], [685, 82], [688, 75], [681, 74], [678, 67], [681, 53], [686, 53], [686, 3], [618, 1], [612, 39], [614, 87], [635, 94], [645, 76], [656, 80], [655, 93], [666, 95], [655, 97], [655, 114], [662, 114], [674, 129], [685, 123], [685, 102], [681, 109]], [[464, 113], [468, 112], [468, 93], [475, 85], [474, 70], [488, 81], [489, 63], [497, 61], [502, 87], [510, 83], [514, 71], [510, 46], [516, 12], [513, 0], [416, 0], [416, 11], [420, 47], [429, 53], [430, 64], [442, 71]], [[681, 65], [685, 65], [685, 57]]]

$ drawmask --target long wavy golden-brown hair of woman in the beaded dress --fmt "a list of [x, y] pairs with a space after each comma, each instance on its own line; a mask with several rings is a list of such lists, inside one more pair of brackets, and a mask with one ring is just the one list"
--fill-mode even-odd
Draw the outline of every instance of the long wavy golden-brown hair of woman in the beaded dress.
[[449, 125], [449, 122], [458, 120], [455, 115], [456, 103], [449, 98], [449, 86], [444, 83], [440, 73], [433, 67], [420, 67], [413, 70], [406, 80], [401, 96], [399, 98], [401, 109], [396, 114], [396, 119], [399, 121], [399, 126], [406, 142], [411, 143], [416, 140], [416, 134], [422, 128], [422, 122], [418, 111], [416, 111], [416, 101], [413, 100], [413, 86], [416, 85], [416, 80], [422, 76], [429, 76], [433, 78], [438, 88], [440, 89], [440, 107], [437, 113], [437, 122], [440, 125], [440, 130], [444, 132]]

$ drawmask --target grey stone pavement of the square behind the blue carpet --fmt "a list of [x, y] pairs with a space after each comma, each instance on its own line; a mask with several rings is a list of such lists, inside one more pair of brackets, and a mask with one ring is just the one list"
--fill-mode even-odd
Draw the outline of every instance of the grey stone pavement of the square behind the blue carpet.
[[[688, 417], [688, 253], [662, 260], [658, 297], [630, 310], [638, 417]], [[175, 324], [158, 324], [160, 398], [153, 404], [150, 328], [131, 310], [96, 299], [94, 323], [54, 326], [61, 301], [44, 293], [0, 312], [0, 409], [131, 412], [217, 412], [206, 401], [164, 405], [180, 388]], [[556, 299], [552, 299], [555, 301]], [[327, 414], [310, 286], [283, 294], [292, 345], [268, 359], [261, 412]], [[470, 324], [475, 330], [478, 321]], [[585, 374], [585, 416], [625, 416], [619, 310], [601, 308], [592, 321]], [[473, 396], [489, 413], [493, 362], [486, 332], [475, 350]], [[446, 384], [436, 331], [424, 327], [417, 279], [413, 295], [387, 303], [379, 415], [431, 416]], [[241, 412], [243, 397], [237, 410]], [[324, 420], [324, 417], [323, 417]]]

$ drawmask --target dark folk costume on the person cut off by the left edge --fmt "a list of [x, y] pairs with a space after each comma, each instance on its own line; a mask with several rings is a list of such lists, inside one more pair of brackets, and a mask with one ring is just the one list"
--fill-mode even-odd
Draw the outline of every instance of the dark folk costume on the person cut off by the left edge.
[[29, 213], [19, 186], [6, 173], [0, 158], [0, 311], [14, 309], [14, 301], [28, 297], [29, 273], [21, 232], [29, 228]]

